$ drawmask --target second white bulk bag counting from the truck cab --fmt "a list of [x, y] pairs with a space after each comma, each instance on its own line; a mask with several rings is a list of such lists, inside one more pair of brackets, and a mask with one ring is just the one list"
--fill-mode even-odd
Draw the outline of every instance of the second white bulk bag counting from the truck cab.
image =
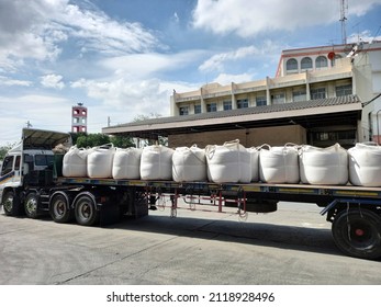
[[93, 147], [88, 156], [89, 178], [112, 178], [114, 154], [112, 144]]

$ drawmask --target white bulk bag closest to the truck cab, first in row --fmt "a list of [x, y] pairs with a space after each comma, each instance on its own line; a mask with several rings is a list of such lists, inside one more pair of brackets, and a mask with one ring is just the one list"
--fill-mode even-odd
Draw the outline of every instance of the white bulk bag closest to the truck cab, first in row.
[[90, 150], [71, 146], [63, 160], [64, 177], [87, 177], [87, 158]]

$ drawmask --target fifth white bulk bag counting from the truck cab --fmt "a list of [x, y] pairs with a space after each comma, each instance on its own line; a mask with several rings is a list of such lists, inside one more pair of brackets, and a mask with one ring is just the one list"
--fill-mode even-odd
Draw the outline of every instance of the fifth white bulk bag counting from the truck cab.
[[176, 148], [172, 156], [172, 178], [176, 182], [205, 181], [205, 150], [197, 145]]

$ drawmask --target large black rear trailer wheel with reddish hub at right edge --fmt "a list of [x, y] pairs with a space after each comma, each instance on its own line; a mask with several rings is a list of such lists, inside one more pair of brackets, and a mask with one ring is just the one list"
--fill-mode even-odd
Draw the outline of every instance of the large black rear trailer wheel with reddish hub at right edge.
[[381, 258], [381, 217], [372, 211], [340, 212], [332, 225], [332, 234], [336, 246], [348, 255]]

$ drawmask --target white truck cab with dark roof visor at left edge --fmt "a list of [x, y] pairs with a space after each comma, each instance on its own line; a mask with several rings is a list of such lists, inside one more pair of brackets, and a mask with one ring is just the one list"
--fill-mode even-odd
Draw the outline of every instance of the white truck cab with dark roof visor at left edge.
[[53, 167], [53, 148], [59, 144], [70, 146], [69, 134], [24, 128], [21, 141], [10, 149], [0, 171], [0, 205], [8, 215], [23, 211], [24, 186], [31, 177]]

